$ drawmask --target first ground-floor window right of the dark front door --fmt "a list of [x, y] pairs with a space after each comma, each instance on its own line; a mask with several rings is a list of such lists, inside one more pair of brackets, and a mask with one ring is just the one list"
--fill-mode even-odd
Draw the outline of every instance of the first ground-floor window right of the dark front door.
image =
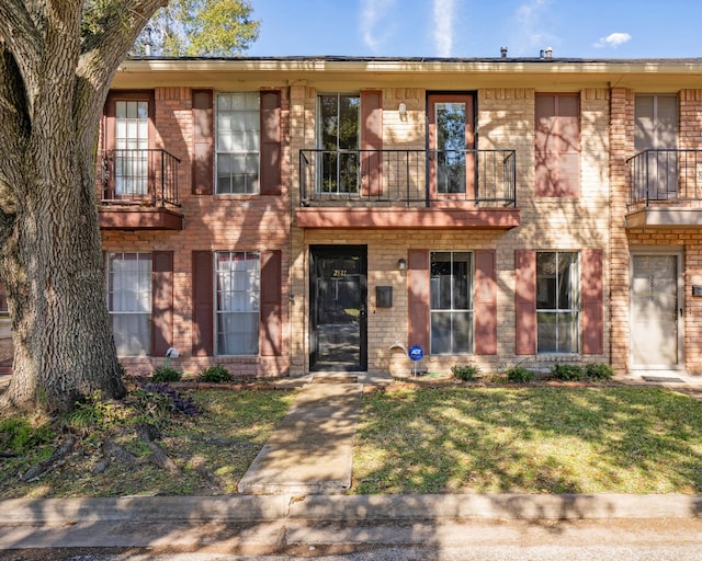
[[430, 257], [431, 354], [473, 352], [473, 255], [432, 252]]

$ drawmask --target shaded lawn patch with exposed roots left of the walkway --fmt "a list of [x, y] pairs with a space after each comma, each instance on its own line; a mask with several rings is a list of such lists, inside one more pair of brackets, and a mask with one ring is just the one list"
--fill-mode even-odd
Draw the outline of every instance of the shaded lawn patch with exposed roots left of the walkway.
[[0, 417], [0, 499], [236, 493], [294, 393], [148, 383], [61, 419]]

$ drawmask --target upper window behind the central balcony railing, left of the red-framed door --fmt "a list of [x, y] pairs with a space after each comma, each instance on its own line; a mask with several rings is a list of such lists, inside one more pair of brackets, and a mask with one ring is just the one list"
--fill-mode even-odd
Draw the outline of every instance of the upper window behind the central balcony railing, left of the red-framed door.
[[358, 194], [360, 185], [359, 95], [320, 95], [317, 108], [318, 192]]

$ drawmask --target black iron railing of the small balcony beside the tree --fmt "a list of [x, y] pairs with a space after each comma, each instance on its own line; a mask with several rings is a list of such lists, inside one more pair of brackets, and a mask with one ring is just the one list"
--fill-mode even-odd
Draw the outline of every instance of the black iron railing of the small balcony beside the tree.
[[161, 149], [101, 150], [98, 158], [100, 202], [179, 206], [180, 160]]

